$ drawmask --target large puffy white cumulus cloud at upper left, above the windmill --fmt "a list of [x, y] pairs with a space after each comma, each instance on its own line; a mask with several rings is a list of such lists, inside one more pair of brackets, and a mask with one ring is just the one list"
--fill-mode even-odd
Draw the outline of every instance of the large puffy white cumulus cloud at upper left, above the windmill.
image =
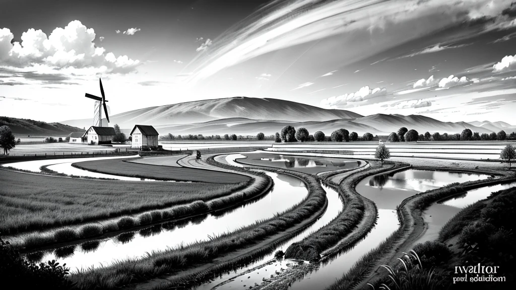
[[57, 27], [47, 37], [42, 30], [30, 28], [21, 36], [21, 42], [11, 41], [10, 29], [0, 29], [0, 67], [34, 68], [93, 68], [94, 73], [128, 73], [140, 62], [126, 55], [116, 57], [103, 47], [96, 46], [95, 31], [74, 20], [65, 28]]

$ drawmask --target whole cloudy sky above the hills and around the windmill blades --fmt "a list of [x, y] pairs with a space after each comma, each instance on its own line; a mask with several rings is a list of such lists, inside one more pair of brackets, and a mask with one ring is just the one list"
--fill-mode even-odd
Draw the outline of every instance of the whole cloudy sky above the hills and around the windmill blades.
[[512, 0], [0, 2], [0, 116], [277, 98], [516, 124]]

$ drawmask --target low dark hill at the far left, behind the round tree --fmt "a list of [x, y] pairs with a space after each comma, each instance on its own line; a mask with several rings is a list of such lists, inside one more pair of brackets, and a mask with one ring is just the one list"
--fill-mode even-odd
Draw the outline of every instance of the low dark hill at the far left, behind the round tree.
[[84, 131], [82, 128], [61, 123], [45, 123], [30, 119], [0, 117], [0, 126], [7, 125], [14, 135], [58, 136]]

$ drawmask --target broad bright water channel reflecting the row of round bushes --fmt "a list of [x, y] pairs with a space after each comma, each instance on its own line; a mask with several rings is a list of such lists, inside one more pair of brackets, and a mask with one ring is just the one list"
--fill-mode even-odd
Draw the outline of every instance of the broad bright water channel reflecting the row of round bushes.
[[59, 257], [58, 250], [47, 252], [42, 257], [42, 261], [59, 260], [77, 270], [90, 266], [110, 265], [117, 260], [131, 257], [139, 259], [148, 252], [205, 241], [210, 237], [216, 237], [246, 227], [256, 221], [271, 218], [298, 204], [307, 196], [307, 188], [297, 178], [281, 173], [267, 174], [275, 183], [267, 196], [256, 202], [239, 206], [223, 216], [204, 215], [198, 220], [182, 224], [181, 228], [176, 227], [170, 231], [160, 231], [152, 235], [134, 235], [123, 242], [120, 242], [117, 237], [109, 238], [102, 240], [93, 252], [75, 251], [67, 257]]

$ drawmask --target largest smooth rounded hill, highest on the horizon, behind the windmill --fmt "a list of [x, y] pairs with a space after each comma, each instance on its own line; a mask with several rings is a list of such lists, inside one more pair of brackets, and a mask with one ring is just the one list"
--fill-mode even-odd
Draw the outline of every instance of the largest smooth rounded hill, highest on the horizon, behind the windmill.
[[[255, 120], [329, 121], [363, 117], [354, 112], [323, 109], [280, 99], [235, 97], [203, 100], [159, 107], [150, 107], [110, 116], [110, 124], [132, 128], [135, 124], [177, 125], [228, 118]], [[62, 121], [63, 124], [84, 127], [91, 119]]]

